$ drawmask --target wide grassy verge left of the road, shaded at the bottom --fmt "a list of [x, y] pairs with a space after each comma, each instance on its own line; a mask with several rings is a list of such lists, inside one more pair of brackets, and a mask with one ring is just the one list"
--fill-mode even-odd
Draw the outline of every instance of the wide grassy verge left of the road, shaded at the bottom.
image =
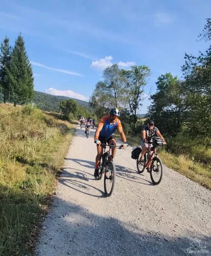
[[0, 256], [33, 250], [73, 132], [30, 106], [0, 105]]

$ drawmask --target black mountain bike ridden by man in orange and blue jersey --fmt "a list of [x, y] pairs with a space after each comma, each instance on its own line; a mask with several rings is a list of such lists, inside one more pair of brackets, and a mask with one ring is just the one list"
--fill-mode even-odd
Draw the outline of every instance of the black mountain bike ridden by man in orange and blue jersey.
[[[98, 175], [98, 180], [101, 180], [104, 173], [104, 191], [106, 196], [110, 196], [114, 191], [115, 181], [116, 181], [116, 168], [113, 160], [111, 160], [111, 149], [119, 148], [123, 149], [123, 145], [107, 145], [101, 143], [100, 146], [103, 147], [103, 154], [100, 160], [100, 172]], [[109, 150], [106, 151], [106, 147], [109, 147]]]

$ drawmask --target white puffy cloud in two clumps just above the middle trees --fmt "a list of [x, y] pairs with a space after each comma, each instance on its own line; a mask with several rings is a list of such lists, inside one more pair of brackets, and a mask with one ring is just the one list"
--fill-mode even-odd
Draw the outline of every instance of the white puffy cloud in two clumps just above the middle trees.
[[[91, 67], [96, 69], [96, 70], [104, 70], [106, 67], [111, 66], [113, 63], [111, 62], [111, 60], [113, 59], [113, 57], [110, 56], [106, 56], [105, 58], [100, 59], [99, 61], [92, 61]], [[120, 67], [131, 67], [132, 65], [135, 65], [136, 63], [134, 61], [120, 61], [117, 62], [118, 66]]]

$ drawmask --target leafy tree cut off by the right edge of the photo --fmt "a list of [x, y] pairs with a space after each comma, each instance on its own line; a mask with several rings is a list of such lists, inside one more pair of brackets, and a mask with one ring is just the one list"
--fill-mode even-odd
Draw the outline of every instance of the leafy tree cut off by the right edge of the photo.
[[[207, 19], [200, 40], [211, 40], [211, 19]], [[186, 79], [185, 89], [191, 105], [191, 120], [188, 125], [191, 137], [211, 133], [211, 45], [198, 57], [185, 53], [182, 72]], [[202, 125], [203, 124], [203, 125]]]

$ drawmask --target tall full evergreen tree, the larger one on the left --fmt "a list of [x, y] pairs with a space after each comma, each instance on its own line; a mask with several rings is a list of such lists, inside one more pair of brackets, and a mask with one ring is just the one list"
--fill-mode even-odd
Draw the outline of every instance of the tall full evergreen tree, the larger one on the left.
[[[34, 78], [31, 63], [21, 34], [18, 35], [11, 53], [10, 67], [6, 68], [6, 79], [13, 95], [27, 102], [34, 97]], [[16, 102], [14, 102], [14, 105]]]

